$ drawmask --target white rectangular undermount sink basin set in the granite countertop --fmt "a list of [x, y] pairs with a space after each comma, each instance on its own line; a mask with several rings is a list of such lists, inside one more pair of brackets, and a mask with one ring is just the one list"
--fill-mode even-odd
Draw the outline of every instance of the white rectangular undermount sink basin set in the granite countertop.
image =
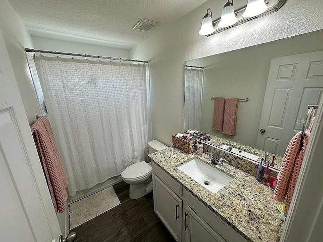
[[[177, 167], [212, 193], [217, 193], [233, 178], [203, 161], [193, 158]], [[206, 185], [208, 183], [208, 185]]]

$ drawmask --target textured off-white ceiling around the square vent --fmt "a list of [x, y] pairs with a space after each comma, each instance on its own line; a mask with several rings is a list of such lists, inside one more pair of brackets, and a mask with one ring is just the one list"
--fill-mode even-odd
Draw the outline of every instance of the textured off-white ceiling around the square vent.
[[[32, 35], [94, 38], [136, 44], [170, 25], [206, 0], [9, 0]], [[224, 1], [225, 2], [225, 1]], [[158, 22], [134, 30], [139, 19]]]

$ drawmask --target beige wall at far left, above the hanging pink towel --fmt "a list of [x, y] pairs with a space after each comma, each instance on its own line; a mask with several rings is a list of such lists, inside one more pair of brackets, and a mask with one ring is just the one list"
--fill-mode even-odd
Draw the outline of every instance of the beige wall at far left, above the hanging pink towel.
[[7, 0], [0, 2], [0, 28], [4, 35], [28, 121], [32, 123], [35, 120], [35, 114], [41, 112], [24, 48], [32, 48], [33, 44], [24, 24]]

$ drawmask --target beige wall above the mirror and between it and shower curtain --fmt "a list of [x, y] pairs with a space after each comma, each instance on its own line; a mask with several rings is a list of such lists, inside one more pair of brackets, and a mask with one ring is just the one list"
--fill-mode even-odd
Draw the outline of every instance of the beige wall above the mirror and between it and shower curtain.
[[132, 51], [133, 58], [150, 62], [153, 139], [169, 146], [172, 133], [183, 130], [185, 61], [323, 28], [320, 0], [288, 0], [277, 13], [200, 36], [202, 18], [213, 4], [214, 0], [207, 1]]

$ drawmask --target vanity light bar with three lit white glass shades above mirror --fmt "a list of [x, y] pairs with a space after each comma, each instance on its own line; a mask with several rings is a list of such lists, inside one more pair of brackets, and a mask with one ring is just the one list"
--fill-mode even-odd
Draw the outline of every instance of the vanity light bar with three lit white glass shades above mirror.
[[238, 10], [234, 10], [233, 0], [227, 1], [219, 19], [212, 20], [212, 10], [206, 10], [201, 29], [198, 32], [200, 35], [208, 37], [250, 20], [277, 12], [287, 0], [248, 0], [247, 5]]

